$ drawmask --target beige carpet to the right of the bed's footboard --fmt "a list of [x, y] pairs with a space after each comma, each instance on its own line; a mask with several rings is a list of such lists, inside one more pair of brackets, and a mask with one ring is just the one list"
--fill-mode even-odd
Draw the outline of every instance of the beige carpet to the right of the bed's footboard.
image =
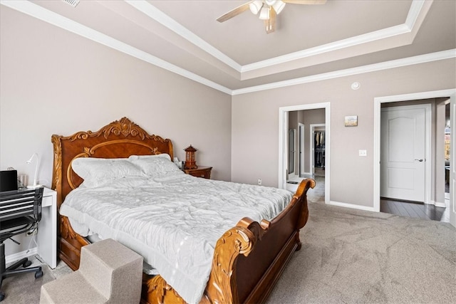
[[309, 209], [301, 251], [267, 303], [456, 303], [455, 227], [316, 202]]

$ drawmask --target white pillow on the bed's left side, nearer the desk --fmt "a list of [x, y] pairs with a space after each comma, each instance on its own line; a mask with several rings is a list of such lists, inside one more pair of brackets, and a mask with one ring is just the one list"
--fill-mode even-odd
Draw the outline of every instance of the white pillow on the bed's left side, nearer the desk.
[[141, 168], [126, 158], [79, 157], [73, 159], [71, 167], [84, 179], [84, 187], [99, 187], [123, 177], [144, 176]]

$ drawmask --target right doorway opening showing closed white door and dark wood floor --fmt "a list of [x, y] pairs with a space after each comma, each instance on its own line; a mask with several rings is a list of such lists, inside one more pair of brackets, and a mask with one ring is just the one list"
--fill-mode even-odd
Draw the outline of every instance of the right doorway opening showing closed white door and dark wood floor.
[[443, 179], [448, 100], [430, 98], [381, 105], [380, 211], [450, 221], [445, 213]]

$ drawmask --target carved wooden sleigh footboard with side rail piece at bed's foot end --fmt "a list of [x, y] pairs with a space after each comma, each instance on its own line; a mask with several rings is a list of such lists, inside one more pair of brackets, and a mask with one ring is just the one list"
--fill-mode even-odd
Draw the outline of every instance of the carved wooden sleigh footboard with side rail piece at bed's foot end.
[[[313, 179], [299, 185], [289, 206], [272, 221], [244, 218], [217, 241], [212, 271], [201, 303], [262, 303], [294, 251], [299, 229], [309, 219], [306, 193]], [[161, 276], [144, 276], [141, 303], [185, 303]]]

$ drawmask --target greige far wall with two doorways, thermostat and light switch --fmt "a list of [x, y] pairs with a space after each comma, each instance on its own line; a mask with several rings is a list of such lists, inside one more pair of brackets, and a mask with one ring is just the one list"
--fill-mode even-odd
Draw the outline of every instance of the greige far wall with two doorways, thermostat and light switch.
[[[276, 187], [279, 108], [331, 103], [331, 201], [373, 207], [374, 98], [456, 87], [455, 59], [408, 65], [232, 98], [232, 181]], [[361, 83], [351, 90], [351, 83]], [[358, 127], [344, 127], [358, 115]], [[359, 157], [358, 150], [367, 150]], [[246, 153], [249, 151], [249, 153]]]

